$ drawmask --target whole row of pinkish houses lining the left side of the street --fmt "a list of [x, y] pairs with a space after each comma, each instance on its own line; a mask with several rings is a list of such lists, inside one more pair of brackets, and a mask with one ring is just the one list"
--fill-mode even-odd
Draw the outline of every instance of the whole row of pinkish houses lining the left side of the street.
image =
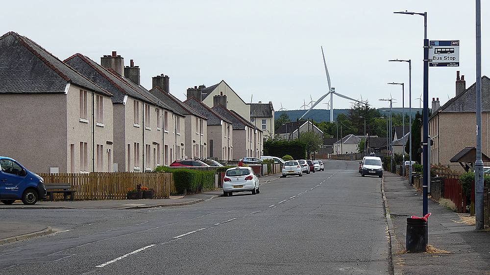
[[150, 171], [179, 159], [260, 157], [272, 103], [245, 103], [225, 81], [187, 90], [140, 84], [113, 51], [61, 61], [25, 36], [0, 37], [0, 155], [38, 173]]

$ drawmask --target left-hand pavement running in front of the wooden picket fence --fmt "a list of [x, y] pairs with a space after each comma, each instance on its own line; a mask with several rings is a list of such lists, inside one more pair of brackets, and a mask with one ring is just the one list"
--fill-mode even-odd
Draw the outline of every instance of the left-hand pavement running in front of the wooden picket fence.
[[[277, 180], [279, 176], [268, 175], [259, 178], [260, 184]], [[189, 196], [171, 196], [170, 199], [147, 200], [100, 200], [100, 201], [41, 201], [33, 206], [25, 206], [20, 201], [13, 205], [1, 205], [0, 209], [140, 209], [153, 207], [187, 206], [216, 199], [223, 194], [222, 189], [202, 192]]]

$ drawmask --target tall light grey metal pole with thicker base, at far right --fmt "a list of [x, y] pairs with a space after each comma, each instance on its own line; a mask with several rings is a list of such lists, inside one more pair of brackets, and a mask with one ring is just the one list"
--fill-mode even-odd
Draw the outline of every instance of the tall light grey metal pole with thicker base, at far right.
[[[424, 102], [425, 105], [425, 102]], [[475, 229], [483, 222], [483, 161], [482, 161], [482, 22], [481, 1], [476, 0], [476, 161], [475, 161]]]

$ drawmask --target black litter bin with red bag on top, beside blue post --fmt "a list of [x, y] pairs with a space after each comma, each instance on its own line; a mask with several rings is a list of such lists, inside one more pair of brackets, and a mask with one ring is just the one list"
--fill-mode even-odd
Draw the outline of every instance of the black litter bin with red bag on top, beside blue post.
[[427, 220], [407, 218], [407, 251], [425, 252], [427, 246]]

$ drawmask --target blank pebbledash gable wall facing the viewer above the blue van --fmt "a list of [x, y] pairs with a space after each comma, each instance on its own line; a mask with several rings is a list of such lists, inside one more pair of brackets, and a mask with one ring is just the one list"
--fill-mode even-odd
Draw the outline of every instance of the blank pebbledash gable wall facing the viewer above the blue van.
[[36, 173], [49, 173], [49, 167], [66, 172], [66, 96], [29, 93], [0, 98], [0, 156], [18, 160]]

